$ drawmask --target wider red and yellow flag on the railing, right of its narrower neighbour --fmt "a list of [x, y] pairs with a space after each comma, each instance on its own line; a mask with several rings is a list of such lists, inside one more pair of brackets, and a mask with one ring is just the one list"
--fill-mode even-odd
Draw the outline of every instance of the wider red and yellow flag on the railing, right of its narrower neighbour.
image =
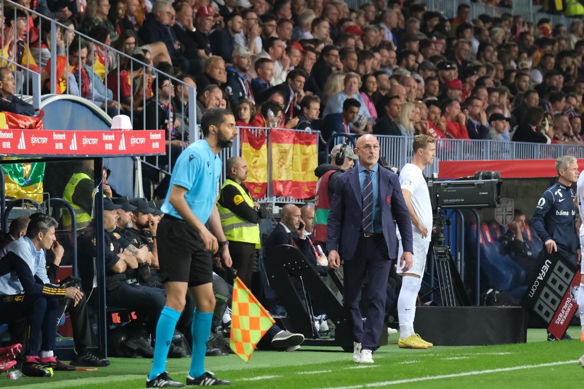
[[272, 129], [272, 179], [274, 195], [297, 199], [316, 194], [318, 134]]

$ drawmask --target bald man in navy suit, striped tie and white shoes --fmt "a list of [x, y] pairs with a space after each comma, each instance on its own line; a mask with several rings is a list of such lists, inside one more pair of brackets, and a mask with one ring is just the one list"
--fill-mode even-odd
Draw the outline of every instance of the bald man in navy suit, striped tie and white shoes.
[[[377, 163], [377, 138], [361, 136], [355, 153], [359, 163], [341, 174], [336, 182], [326, 248], [330, 268], [338, 269], [343, 259], [343, 306], [354, 337], [353, 360], [373, 363], [372, 354], [383, 329], [391, 260], [398, 257], [394, 219], [404, 247], [399, 261], [404, 271], [412, 267], [412, 226], [397, 174]], [[363, 323], [359, 300], [366, 275], [369, 306]]]

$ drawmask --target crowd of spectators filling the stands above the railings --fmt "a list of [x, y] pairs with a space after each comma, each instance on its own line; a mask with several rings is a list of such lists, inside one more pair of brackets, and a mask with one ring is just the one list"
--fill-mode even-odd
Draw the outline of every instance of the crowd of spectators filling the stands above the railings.
[[[323, 141], [338, 131], [583, 142], [582, 20], [552, 26], [509, 13], [471, 20], [465, 4], [449, 20], [411, 0], [359, 9], [338, 0], [19, 3], [103, 43], [58, 31], [58, 92], [67, 84], [112, 114], [144, 110], [150, 129], [186, 123], [188, 91], [164, 78], [152, 90], [156, 72], [130, 69], [110, 47], [196, 86], [197, 122], [221, 107], [239, 126], [318, 129]], [[42, 72], [46, 87], [55, 45], [50, 28], [26, 16], [4, 6], [4, 56]], [[16, 88], [11, 79], [3, 77], [0, 108], [26, 113], [8, 104], [22, 75]], [[156, 115], [169, 107], [175, 120]], [[167, 141], [183, 146], [175, 131]]]

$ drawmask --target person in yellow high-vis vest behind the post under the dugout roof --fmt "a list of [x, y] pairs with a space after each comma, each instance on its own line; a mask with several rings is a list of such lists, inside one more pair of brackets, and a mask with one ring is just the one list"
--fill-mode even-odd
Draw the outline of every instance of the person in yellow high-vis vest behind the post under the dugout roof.
[[[84, 160], [82, 166], [75, 170], [75, 173], [69, 178], [63, 191], [63, 199], [75, 209], [78, 231], [91, 225], [93, 188], [95, 187], [94, 174], [93, 160]], [[63, 225], [65, 228], [71, 228], [71, 215], [68, 212], [63, 214]]]

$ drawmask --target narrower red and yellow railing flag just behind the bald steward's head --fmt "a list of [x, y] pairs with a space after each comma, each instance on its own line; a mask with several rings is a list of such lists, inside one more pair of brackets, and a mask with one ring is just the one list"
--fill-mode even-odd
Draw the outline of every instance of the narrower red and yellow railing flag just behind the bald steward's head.
[[267, 190], [267, 144], [266, 134], [254, 135], [251, 129], [241, 128], [241, 156], [248, 164], [248, 179], [245, 186], [253, 198], [262, 198]]

